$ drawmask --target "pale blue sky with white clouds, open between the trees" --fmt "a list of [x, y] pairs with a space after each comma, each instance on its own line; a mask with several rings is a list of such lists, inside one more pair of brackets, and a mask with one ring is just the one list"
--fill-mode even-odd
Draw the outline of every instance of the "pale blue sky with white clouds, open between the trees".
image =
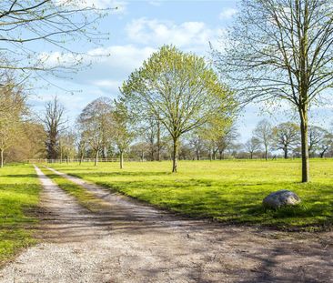
[[[86, 45], [84, 41], [72, 43], [76, 49], [89, 54], [110, 54], [94, 59], [86, 70], [63, 79], [43, 77], [55, 86], [40, 80], [30, 105], [41, 112], [47, 100], [58, 96], [66, 106], [66, 115], [73, 122], [87, 103], [99, 96], [118, 96], [118, 86], [143, 60], [159, 46], [173, 44], [184, 51], [209, 57], [209, 42], [217, 46], [219, 35], [231, 25], [237, 12], [237, 1], [116, 1], [86, 0], [99, 7], [118, 9], [104, 18], [100, 30], [109, 33], [109, 39], [101, 46]], [[71, 43], [69, 43], [71, 45]], [[49, 52], [46, 45], [36, 45]], [[45, 50], [43, 50], [45, 48]], [[68, 91], [65, 91], [68, 90]], [[69, 91], [74, 91], [72, 95]], [[282, 110], [281, 110], [282, 109]], [[290, 107], [279, 107], [274, 115], [261, 110], [260, 106], [247, 106], [237, 120], [241, 141], [251, 136], [257, 122], [267, 117], [272, 123], [285, 122], [293, 118]], [[332, 116], [332, 105], [314, 108], [315, 124], [328, 126]]]

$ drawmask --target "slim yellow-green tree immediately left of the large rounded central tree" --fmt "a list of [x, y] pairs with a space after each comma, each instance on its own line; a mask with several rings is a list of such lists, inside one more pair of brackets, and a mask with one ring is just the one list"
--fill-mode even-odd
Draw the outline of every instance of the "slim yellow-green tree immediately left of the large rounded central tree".
[[131, 127], [132, 118], [122, 102], [116, 102], [116, 109], [112, 116], [113, 140], [119, 151], [120, 169], [124, 167], [124, 152], [132, 142], [135, 131]]

